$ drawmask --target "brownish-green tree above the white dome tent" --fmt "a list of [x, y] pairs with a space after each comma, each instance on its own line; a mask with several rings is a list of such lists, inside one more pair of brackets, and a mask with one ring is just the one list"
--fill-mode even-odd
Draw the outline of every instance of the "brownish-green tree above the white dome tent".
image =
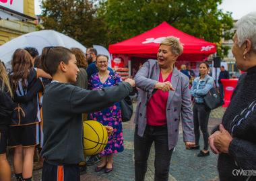
[[74, 38], [86, 47], [106, 46], [106, 25], [88, 0], [42, 0], [42, 25]]

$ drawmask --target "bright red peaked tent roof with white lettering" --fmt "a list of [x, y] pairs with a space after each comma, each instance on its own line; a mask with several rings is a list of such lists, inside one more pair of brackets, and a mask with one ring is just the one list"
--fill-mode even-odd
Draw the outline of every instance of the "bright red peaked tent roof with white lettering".
[[201, 61], [216, 52], [216, 44], [185, 34], [166, 22], [139, 36], [112, 44], [109, 46], [108, 51], [110, 54], [156, 58], [160, 42], [168, 36], [179, 38], [183, 44], [183, 54], [178, 60]]

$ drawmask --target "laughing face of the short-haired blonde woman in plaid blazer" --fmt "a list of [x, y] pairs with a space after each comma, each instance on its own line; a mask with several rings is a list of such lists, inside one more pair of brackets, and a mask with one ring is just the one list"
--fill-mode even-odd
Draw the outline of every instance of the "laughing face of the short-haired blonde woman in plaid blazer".
[[162, 44], [158, 49], [157, 57], [160, 68], [168, 68], [173, 66], [174, 62], [178, 58], [178, 54], [172, 54], [170, 46]]

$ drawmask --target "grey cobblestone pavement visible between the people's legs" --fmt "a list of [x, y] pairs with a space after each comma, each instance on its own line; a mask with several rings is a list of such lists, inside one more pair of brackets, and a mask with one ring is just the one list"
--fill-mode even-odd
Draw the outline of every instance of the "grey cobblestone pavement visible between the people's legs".
[[[134, 104], [134, 107], [136, 104]], [[135, 109], [134, 109], [135, 110]], [[209, 131], [221, 123], [222, 115], [226, 111], [226, 108], [219, 107], [210, 114]], [[133, 114], [134, 117], [134, 114]], [[133, 160], [133, 133], [134, 127], [133, 117], [131, 121], [123, 123], [123, 137], [125, 150], [121, 153], [115, 154], [113, 162], [113, 171], [105, 174], [104, 171], [95, 172], [94, 168], [100, 163], [94, 166], [88, 166], [87, 173], [81, 176], [81, 180], [94, 181], [94, 180], [135, 180], [134, 179], [134, 160]], [[200, 146], [203, 147], [202, 136], [200, 138]], [[179, 142], [175, 147], [175, 152], [172, 154], [169, 180], [207, 180], [207, 181], [219, 181], [217, 172], [217, 158], [215, 154], [210, 153], [210, 156], [205, 158], [197, 158], [199, 150], [185, 149], [183, 143], [183, 133], [180, 125], [179, 130]], [[8, 160], [11, 164], [13, 152], [10, 150]], [[11, 164], [12, 180], [14, 181], [13, 165]], [[33, 172], [33, 180], [38, 181], [41, 178], [42, 170]], [[154, 145], [150, 152], [148, 160], [148, 171], [146, 173], [146, 181], [154, 180]]]

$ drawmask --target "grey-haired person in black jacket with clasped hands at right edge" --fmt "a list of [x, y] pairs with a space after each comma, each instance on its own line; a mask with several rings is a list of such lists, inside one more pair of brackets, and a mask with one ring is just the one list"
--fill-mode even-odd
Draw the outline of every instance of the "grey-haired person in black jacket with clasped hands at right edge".
[[236, 22], [232, 53], [243, 73], [222, 124], [209, 137], [222, 180], [256, 180], [256, 12]]

